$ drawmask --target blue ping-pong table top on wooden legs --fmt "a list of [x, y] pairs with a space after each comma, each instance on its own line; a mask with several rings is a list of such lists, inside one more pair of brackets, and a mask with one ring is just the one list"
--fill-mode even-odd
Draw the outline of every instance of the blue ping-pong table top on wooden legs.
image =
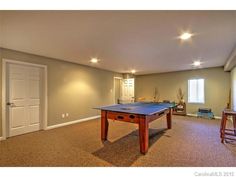
[[96, 109], [114, 112], [123, 112], [131, 114], [153, 115], [163, 110], [174, 107], [172, 103], [146, 103], [136, 102], [129, 104], [115, 104], [110, 106], [102, 106]]

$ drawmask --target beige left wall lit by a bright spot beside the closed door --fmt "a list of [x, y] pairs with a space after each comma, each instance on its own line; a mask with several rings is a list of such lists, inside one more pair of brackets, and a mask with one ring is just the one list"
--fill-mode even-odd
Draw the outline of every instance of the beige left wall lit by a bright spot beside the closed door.
[[[2, 73], [2, 58], [47, 65], [49, 126], [98, 115], [99, 111], [92, 108], [113, 103], [113, 77], [122, 76], [105, 70], [7, 49], [0, 49], [0, 58], [0, 73]], [[2, 86], [0, 86], [0, 93], [2, 93], [1, 89]], [[69, 113], [69, 118], [61, 118], [62, 113]], [[0, 124], [1, 115], [2, 112], [0, 112]], [[1, 129], [2, 126], [0, 126], [0, 136]]]

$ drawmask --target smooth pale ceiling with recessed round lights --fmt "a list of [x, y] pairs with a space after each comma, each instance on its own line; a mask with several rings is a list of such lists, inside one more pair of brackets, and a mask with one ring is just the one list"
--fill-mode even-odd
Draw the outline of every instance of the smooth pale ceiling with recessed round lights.
[[[185, 30], [195, 35], [183, 43]], [[199, 58], [216, 67], [236, 44], [236, 11], [1, 11], [0, 39], [3, 48], [121, 73], [189, 70]]]

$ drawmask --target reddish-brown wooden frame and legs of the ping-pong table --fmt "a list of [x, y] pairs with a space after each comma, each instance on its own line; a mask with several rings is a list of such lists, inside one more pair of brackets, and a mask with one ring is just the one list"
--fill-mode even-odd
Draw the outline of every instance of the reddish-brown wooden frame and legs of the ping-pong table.
[[107, 140], [109, 122], [108, 119], [130, 122], [139, 125], [140, 152], [146, 154], [149, 146], [149, 123], [166, 115], [167, 128], [171, 129], [172, 108], [167, 108], [154, 115], [141, 115], [115, 111], [101, 110], [101, 140]]

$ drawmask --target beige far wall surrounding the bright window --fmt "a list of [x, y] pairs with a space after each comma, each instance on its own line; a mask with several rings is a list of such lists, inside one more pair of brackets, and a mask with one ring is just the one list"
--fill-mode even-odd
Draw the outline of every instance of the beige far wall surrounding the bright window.
[[[188, 79], [205, 79], [205, 104], [188, 104]], [[223, 67], [208, 68], [191, 71], [151, 74], [136, 77], [135, 97], [152, 99], [154, 88], [157, 87], [161, 100], [178, 101], [179, 88], [185, 93], [187, 113], [195, 114], [199, 107], [212, 108], [215, 116], [221, 116], [221, 111], [226, 107], [230, 88], [230, 73], [224, 72]]]

